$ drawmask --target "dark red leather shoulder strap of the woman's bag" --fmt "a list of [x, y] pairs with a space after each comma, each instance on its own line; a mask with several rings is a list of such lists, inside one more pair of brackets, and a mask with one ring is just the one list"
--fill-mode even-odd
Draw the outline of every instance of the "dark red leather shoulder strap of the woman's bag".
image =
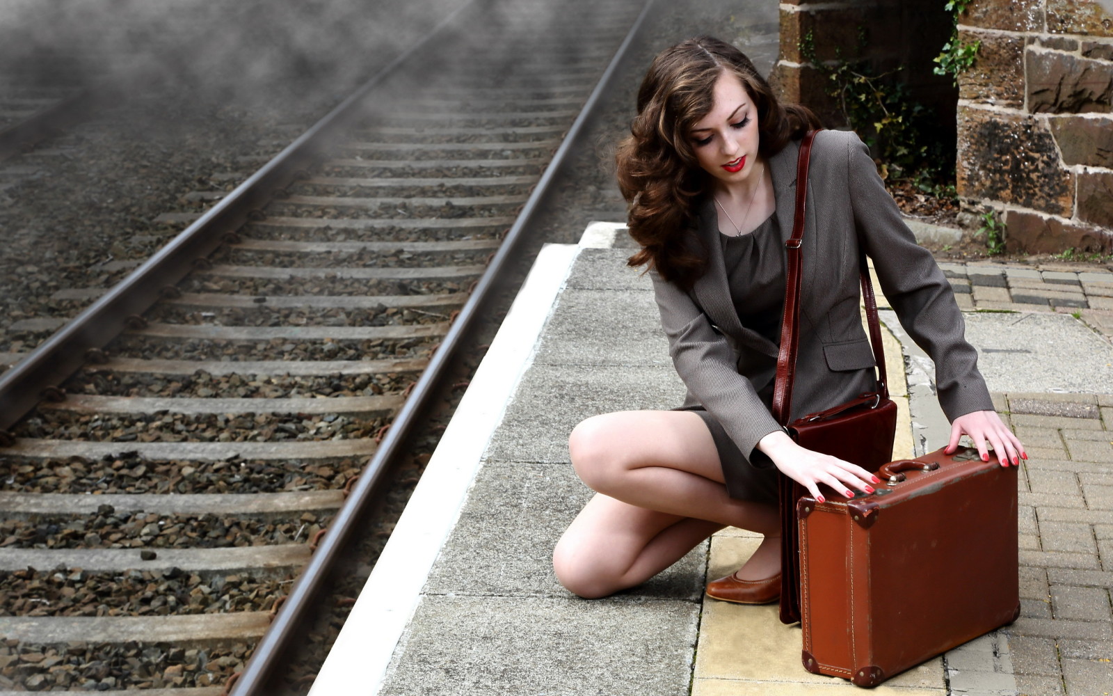
[[[786, 268], [785, 315], [780, 324], [780, 349], [777, 353], [777, 379], [774, 384], [772, 416], [781, 425], [788, 425], [792, 409], [792, 382], [796, 379], [796, 356], [799, 349], [800, 329], [800, 283], [804, 275], [804, 220], [808, 198], [808, 163], [811, 159], [811, 143], [816, 130], [809, 130], [800, 141], [800, 154], [796, 164], [796, 209], [792, 218], [792, 234], [785, 242], [788, 249]], [[888, 379], [885, 371], [885, 350], [881, 346], [881, 327], [877, 318], [877, 300], [869, 280], [865, 252], [859, 258], [859, 278], [866, 305], [866, 321], [869, 324], [869, 340], [874, 349], [874, 361], [878, 370], [877, 391], [888, 399]]]

